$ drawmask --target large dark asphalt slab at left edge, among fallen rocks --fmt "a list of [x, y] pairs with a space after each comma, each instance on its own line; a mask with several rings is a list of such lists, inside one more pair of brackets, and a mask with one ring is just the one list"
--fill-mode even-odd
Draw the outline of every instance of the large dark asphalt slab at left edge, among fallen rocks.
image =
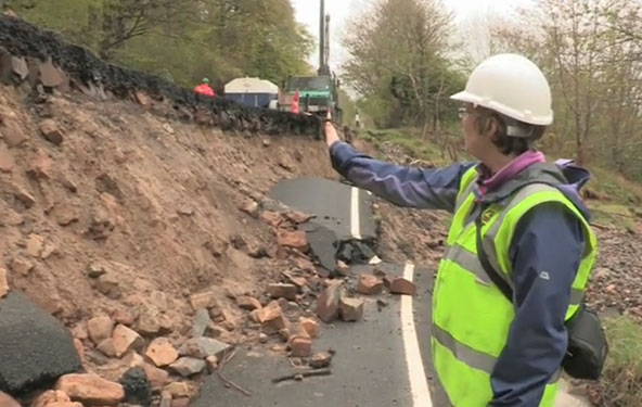
[[81, 369], [70, 332], [18, 291], [0, 301], [0, 391], [20, 395]]

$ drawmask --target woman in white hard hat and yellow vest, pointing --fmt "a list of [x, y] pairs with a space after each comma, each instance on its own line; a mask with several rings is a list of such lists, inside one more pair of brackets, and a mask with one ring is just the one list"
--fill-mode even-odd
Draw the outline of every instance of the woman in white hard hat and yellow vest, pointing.
[[489, 58], [451, 98], [462, 102], [465, 149], [478, 162], [384, 163], [341, 141], [329, 122], [332, 164], [397, 205], [454, 214], [432, 321], [433, 363], [451, 405], [553, 407], [568, 322], [585, 313], [595, 258], [578, 193], [590, 175], [547, 164], [534, 149], [553, 111], [549, 84], [528, 59]]

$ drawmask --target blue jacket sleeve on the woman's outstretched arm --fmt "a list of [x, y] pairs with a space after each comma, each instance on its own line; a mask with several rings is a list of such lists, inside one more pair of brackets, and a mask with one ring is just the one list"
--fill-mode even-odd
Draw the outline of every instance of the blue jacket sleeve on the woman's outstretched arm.
[[330, 149], [334, 169], [357, 187], [399, 206], [454, 211], [463, 174], [474, 163], [422, 169], [385, 163], [337, 141]]

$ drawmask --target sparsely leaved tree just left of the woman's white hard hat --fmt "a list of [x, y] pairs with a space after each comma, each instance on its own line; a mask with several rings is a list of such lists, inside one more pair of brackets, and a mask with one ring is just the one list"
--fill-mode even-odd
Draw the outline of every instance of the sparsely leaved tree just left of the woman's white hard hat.
[[434, 0], [380, 0], [354, 22], [343, 41], [345, 79], [375, 123], [424, 135], [439, 127], [446, 96], [461, 85], [447, 58], [452, 31], [452, 15]]

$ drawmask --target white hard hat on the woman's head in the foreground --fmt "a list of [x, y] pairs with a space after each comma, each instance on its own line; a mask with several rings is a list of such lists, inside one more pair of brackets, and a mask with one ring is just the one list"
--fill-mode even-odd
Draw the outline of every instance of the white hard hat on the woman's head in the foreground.
[[483, 61], [468, 77], [466, 89], [450, 98], [531, 125], [553, 123], [547, 78], [536, 64], [518, 54], [503, 53]]

